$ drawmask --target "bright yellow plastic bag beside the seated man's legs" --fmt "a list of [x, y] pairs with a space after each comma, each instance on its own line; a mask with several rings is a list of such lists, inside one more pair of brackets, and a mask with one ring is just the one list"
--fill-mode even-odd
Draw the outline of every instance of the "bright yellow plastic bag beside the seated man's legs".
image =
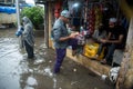
[[[89, 58], [93, 58], [98, 52], [99, 46], [100, 46], [99, 43], [85, 44], [84, 49], [83, 49], [83, 55], [89, 57]], [[102, 50], [102, 53], [100, 55], [98, 60], [101, 60], [103, 58], [103, 56], [104, 56], [104, 49]]]

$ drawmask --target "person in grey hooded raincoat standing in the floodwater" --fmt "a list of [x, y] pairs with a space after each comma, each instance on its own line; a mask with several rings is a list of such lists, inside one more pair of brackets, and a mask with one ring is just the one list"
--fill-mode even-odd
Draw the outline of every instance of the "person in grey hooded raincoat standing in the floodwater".
[[24, 29], [22, 34], [23, 34], [25, 51], [28, 53], [28, 58], [32, 59], [34, 57], [34, 53], [33, 53], [33, 47], [34, 47], [33, 26], [32, 26], [32, 22], [30, 21], [30, 19], [27, 17], [22, 18], [22, 23], [23, 23], [23, 29]]

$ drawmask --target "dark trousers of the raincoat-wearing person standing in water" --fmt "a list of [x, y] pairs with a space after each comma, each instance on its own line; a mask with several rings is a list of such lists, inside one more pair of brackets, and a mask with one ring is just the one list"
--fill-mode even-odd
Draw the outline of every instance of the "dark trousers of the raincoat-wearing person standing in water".
[[33, 47], [31, 47], [25, 40], [24, 40], [25, 51], [28, 53], [28, 58], [33, 58]]

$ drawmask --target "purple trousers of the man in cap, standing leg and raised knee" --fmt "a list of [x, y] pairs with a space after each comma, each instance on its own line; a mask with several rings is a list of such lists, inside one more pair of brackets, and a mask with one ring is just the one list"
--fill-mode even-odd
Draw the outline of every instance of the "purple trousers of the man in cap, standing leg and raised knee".
[[[75, 50], [78, 47], [78, 41], [75, 39], [71, 39], [71, 40], [69, 40], [69, 46], [72, 46], [72, 50]], [[64, 49], [55, 48], [55, 52], [57, 52], [57, 58], [55, 58], [55, 65], [54, 65], [54, 69], [53, 69], [54, 73], [60, 71], [60, 67], [66, 55], [66, 48], [64, 48]]]

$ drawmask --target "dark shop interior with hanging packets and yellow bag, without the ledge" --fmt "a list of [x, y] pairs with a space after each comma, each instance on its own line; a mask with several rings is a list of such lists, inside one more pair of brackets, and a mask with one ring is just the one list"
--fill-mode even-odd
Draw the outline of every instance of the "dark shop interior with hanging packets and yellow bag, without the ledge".
[[[91, 39], [94, 34], [94, 31], [99, 30], [101, 24], [104, 26], [105, 29], [108, 29], [110, 18], [115, 17], [117, 19], [117, 24], [122, 26], [127, 32], [129, 20], [122, 13], [119, 1], [68, 0], [68, 9], [71, 14], [70, 24], [75, 27], [75, 29], [72, 31], [80, 32], [78, 39], [81, 44], [79, 43], [78, 53], [89, 59], [94, 59], [93, 57], [99, 49], [99, 43], [95, 43]], [[123, 50], [119, 49], [116, 50], [116, 52], [114, 52], [114, 60], [112, 58], [113, 62], [111, 62], [110, 66], [114, 66], [115, 63], [121, 65], [121, 59], [123, 56], [121, 56], [121, 59], [116, 57], [120, 51], [123, 52]], [[104, 50], [101, 53], [100, 58], [98, 58], [96, 60], [102, 60], [103, 57]]]

